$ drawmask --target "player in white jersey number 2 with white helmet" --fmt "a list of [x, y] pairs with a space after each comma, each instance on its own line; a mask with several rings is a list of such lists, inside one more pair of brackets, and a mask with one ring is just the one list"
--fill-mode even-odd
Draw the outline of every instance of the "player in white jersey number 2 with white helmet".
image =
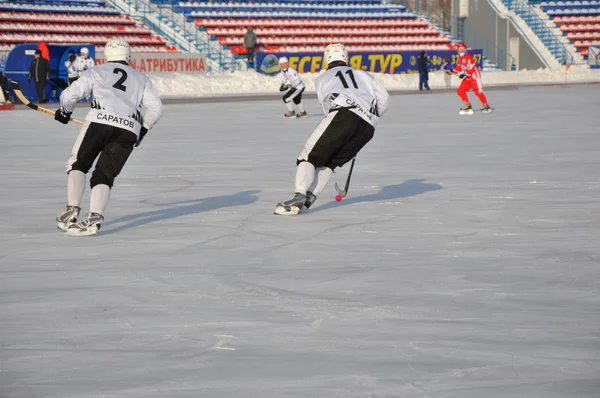
[[[92, 109], [67, 163], [67, 208], [56, 217], [58, 227], [71, 236], [98, 232], [115, 177], [123, 169], [134, 146], [140, 145], [163, 112], [154, 84], [128, 65], [131, 49], [125, 40], [109, 40], [104, 47], [104, 57], [107, 63], [83, 72], [63, 91], [60, 109], [54, 115], [56, 120], [67, 124], [77, 101], [93, 95]], [[77, 223], [85, 175], [96, 158], [98, 162], [90, 179], [90, 212]]]

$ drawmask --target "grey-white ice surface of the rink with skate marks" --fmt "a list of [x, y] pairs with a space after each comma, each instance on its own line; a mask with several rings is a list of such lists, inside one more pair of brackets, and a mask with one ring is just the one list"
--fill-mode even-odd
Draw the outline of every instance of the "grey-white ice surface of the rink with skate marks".
[[392, 97], [298, 217], [315, 100], [169, 105], [90, 238], [78, 127], [0, 113], [0, 397], [599, 397], [598, 87], [488, 96]]

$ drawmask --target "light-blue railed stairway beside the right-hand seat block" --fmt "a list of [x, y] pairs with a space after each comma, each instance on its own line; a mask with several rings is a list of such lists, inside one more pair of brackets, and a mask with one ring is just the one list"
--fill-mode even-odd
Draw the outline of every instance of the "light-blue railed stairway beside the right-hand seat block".
[[561, 65], [573, 64], [573, 56], [527, 0], [502, 0], [509, 10], [523, 18]]

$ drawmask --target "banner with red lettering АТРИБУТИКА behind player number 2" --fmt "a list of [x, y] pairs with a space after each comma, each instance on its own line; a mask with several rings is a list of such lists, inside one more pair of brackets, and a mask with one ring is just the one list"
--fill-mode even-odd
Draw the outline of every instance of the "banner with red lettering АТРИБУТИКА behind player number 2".
[[[104, 54], [98, 51], [96, 65], [106, 62]], [[133, 53], [129, 64], [140, 72], [153, 75], [173, 73], [206, 73], [206, 55], [189, 53]]]

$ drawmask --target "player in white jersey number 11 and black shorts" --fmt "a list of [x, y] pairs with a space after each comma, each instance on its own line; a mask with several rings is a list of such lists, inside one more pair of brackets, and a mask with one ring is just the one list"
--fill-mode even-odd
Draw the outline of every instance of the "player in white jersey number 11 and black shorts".
[[275, 214], [308, 209], [333, 170], [352, 160], [373, 138], [377, 121], [389, 105], [389, 94], [373, 76], [348, 66], [348, 51], [342, 44], [327, 46], [325, 62], [327, 71], [315, 83], [325, 118], [296, 161], [294, 197], [277, 204]]

